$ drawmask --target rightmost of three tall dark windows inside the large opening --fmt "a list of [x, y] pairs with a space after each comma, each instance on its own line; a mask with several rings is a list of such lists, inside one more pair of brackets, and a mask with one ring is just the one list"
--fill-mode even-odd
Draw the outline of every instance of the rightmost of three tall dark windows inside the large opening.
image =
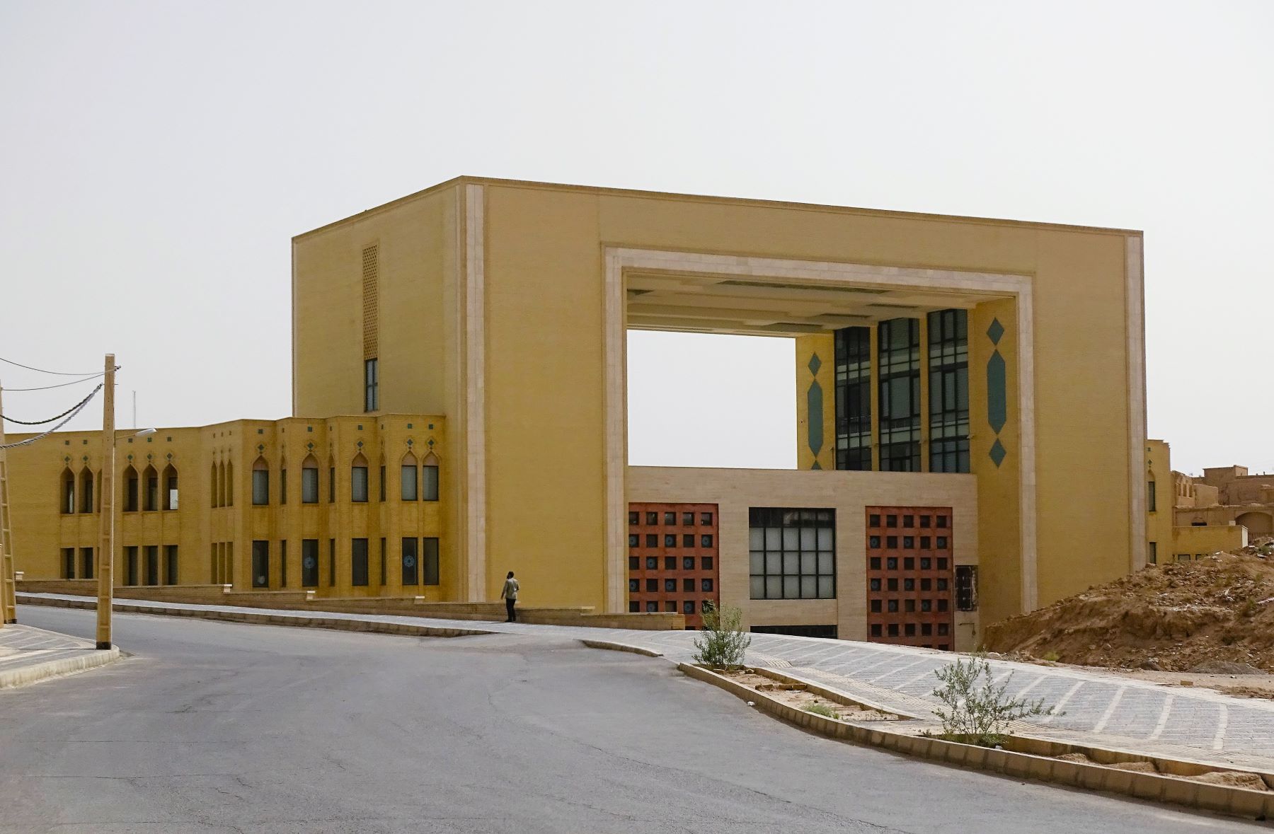
[[929, 471], [967, 472], [968, 312], [929, 313]]

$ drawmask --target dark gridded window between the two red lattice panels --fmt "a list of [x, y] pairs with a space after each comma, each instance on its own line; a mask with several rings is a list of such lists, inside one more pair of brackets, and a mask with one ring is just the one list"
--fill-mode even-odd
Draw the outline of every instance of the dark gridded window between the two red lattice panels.
[[748, 511], [753, 600], [836, 598], [836, 511]]

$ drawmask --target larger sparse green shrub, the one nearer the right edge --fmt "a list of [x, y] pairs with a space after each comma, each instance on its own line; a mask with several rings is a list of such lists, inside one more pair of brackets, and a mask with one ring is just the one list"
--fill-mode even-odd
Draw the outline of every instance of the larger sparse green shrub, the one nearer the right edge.
[[1042, 698], [1009, 698], [1006, 690], [1013, 675], [996, 685], [991, 665], [982, 654], [973, 654], [967, 661], [957, 660], [934, 671], [934, 675], [943, 682], [934, 695], [945, 704], [934, 712], [943, 722], [941, 737], [948, 741], [994, 747], [1004, 741], [1012, 721], [1065, 714], [1045, 707]]

